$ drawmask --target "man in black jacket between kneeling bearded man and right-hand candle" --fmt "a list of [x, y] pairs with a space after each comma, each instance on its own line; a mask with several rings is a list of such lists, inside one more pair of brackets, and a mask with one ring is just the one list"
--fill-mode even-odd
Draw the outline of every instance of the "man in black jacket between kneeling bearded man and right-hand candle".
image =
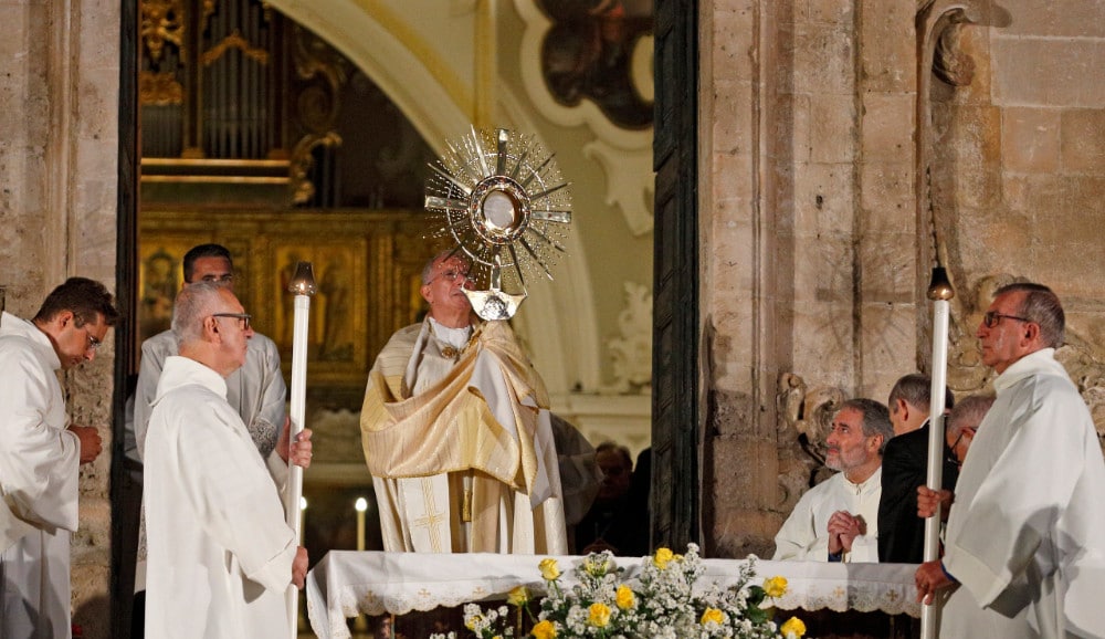
[[[928, 475], [928, 411], [933, 380], [913, 373], [897, 380], [890, 395], [894, 439], [883, 453], [883, 494], [878, 500], [878, 561], [919, 564], [925, 556], [925, 522], [917, 517], [917, 486]], [[945, 406], [953, 407], [945, 389]], [[944, 461], [944, 457], [940, 457]], [[944, 488], [955, 490], [959, 469], [944, 464]]]

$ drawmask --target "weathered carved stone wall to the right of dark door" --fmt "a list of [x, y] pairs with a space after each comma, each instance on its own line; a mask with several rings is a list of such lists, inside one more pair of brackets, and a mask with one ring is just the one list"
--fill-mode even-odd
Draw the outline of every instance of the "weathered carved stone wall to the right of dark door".
[[1101, 3], [699, 6], [707, 549], [770, 553], [832, 407], [928, 370], [937, 261], [958, 292], [954, 390], [989, 384], [990, 293], [1035, 280], [1105, 425]]

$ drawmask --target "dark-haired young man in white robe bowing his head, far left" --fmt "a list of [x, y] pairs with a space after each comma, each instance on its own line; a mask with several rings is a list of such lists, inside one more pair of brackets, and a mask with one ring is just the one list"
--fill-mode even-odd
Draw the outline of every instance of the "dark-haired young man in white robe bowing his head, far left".
[[71, 636], [70, 534], [77, 468], [95, 427], [69, 422], [57, 369], [92, 362], [119, 314], [99, 282], [71, 277], [31, 322], [0, 317], [0, 637]]

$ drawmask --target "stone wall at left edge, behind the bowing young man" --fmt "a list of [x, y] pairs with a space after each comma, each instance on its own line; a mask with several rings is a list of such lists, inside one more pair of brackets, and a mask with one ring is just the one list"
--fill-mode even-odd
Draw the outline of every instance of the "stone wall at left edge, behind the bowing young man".
[[[117, 2], [0, 3], [0, 284], [23, 317], [67, 276], [115, 285], [118, 24]], [[97, 639], [110, 636], [114, 345], [62, 380], [72, 421], [104, 438], [81, 471], [72, 546], [74, 621]]]

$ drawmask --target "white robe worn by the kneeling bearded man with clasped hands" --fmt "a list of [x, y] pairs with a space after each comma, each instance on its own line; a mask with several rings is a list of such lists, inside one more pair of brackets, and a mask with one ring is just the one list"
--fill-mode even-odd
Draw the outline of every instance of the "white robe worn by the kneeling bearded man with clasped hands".
[[775, 536], [771, 561], [829, 561], [829, 517], [836, 511], [860, 515], [867, 532], [852, 541], [844, 562], [878, 561], [878, 497], [883, 493], [883, 469], [880, 467], [863, 483], [848, 481], [839, 472], [808, 490]]

